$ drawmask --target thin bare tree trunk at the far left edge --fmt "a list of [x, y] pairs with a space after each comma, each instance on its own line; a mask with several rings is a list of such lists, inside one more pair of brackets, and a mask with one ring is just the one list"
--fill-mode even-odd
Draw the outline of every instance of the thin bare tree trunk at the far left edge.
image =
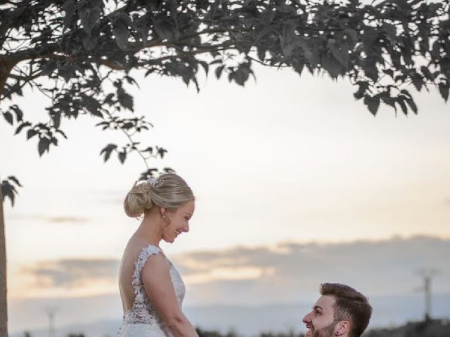
[[[1, 179], [0, 179], [1, 185]], [[6, 239], [3, 196], [0, 188], [0, 337], [8, 337], [8, 305], [6, 301]]]

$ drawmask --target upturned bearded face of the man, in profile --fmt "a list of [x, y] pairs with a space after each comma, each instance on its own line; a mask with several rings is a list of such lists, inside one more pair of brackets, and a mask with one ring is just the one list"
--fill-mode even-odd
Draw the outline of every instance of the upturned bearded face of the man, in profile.
[[306, 337], [332, 337], [334, 336], [334, 308], [333, 296], [321, 296], [305, 317], [303, 322], [307, 326]]

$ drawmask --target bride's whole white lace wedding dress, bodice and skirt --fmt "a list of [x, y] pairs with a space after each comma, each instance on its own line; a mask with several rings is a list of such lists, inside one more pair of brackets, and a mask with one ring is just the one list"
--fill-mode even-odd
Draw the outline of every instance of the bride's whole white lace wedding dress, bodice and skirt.
[[131, 309], [124, 313], [123, 323], [117, 337], [172, 337], [172, 333], [169, 332], [167, 326], [162, 322], [151, 299], [147, 297], [141, 276], [143, 266], [146, 264], [148, 257], [159, 253], [164, 256], [169, 265], [170, 278], [174, 285], [176, 299], [181, 308], [186, 289], [179, 272], [176, 271], [172, 262], [170, 262], [159, 247], [153, 245], [146, 246], [139, 254], [136, 263], [134, 263], [132, 283], [135, 298]]

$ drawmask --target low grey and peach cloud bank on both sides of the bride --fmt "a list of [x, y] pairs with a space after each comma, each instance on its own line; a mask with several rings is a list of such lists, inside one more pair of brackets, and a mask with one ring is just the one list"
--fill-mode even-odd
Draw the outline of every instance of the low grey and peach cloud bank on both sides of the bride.
[[[315, 300], [319, 284], [349, 284], [373, 296], [410, 295], [423, 286], [418, 270], [439, 270], [433, 293], [450, 292], [450, 239], [400, 237], [345, 244], [300, 244], [191, 251], [172, 259], [189, 305], [260, 305]], [[117, 293], [119, 261], [64, 259], [23, 270], [30, 293], [87, 296]]]

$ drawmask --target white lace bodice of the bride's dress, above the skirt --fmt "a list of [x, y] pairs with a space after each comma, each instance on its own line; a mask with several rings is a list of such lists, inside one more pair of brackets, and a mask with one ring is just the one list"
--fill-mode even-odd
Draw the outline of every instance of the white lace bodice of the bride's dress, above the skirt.
[[170, 277], [172, 279], [172, 284], [174, 285], [176, 299], [178, 300], [180, 307], [184, 298], [185, 287], [183, 280], [181, 279], [179, 273], [176, 271], [174, 265], [169, 261], [160, 248], [157, 246], [147, 246], [144, 247], [139, 254], [139, 258], [134, 263], [134, 272], [132, 278], [132, 284], [134, 289], [134, 302], [130, 310], [124, 313], [124, 324], [155, 324], [158, 326], [163, 326], [164, 323], [158, 312], [156, 311], [153, 303], [147, 297], [146, 290], [144, 289], [142, 282], [142, 270], [143, 266], [146, 264], [148, 258], [152, 255], [161, 253], [169, 265]]

